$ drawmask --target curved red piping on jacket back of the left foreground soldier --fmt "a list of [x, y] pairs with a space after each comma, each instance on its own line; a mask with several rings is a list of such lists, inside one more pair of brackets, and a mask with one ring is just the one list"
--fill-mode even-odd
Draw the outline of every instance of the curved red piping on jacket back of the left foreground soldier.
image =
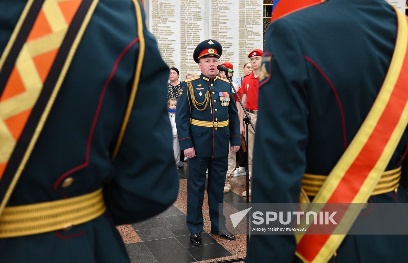
[[60, 178], [58, 178], [58, 180], [55, 182], [54, 184], [54, 190], [59, 192], [60, 194], [62, 194], [62, 196], [65, 198], [67, 198], [67, 194], [65, 194], [65, 192], [61, 191], [60, 189], [58, 189], [58, 185], [61, 183], [61, 181], [67, 177], [68, 175], [72, 174], [73, 172], [76, 172], [86, 166], [88, 166], [89, 164], [89, 152], [91, 149], [91, 142], [92, 142], [92, 137], [93, 137], [93, 132], [95, 130], [95, 126], [96, 126], [96, 121], [98, 120], [98, 116], [99, 116], [99, 112], [102, 106], [102, 101], [103, 98], [105, 96], [105, 91], [106, 88], [108, 87], [109, 83], [111, 82], [113, 76], [115, 75], [116, 69], [118, 68], [119, 62], [120, 60], [122, 60], [122, 57], [127, 53], [127, 51], [129, 51], [129, 49], [131, 49], [131, 47], [136, 44], [137, 42], [139, 42], [139, 38], [135, 38], [128, 46], [126, 46], [126, 48], [122, 51], [122, 53], [120, 53], [119, 57], [116, 59], [115, 64], [113, 64], [113, 68], [111, 71], [111, 74], [109, 75], [108, 79], [106, 80], [103, 88], [102, 88], [102, 92], [101, 95], [99, 97], [99, 102], [98, 102], [98, 107], [96, 108], [96, 112], [95, 112], [95, 116], [93, 117], [93, 122], [92, 122], [92, 126], [91, 126], [91, 130], [89, 132], [89, 136], [88, 136], [88, 141], [86, 144], [86, 155], [85, 155], [85, 162], [83, 164], [81, 164], [80, 166], [77, 166], [71, 170], [69, 170], [68, 172], [65, 172], [63, 175], [60, 176]]

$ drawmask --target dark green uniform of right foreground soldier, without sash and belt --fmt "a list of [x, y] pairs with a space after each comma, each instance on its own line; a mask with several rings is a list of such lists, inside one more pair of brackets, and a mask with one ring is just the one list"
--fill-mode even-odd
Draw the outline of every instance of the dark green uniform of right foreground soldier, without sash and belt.
[[[330, 173], [373, 106], [396, 35], [396, 14], [384, 0], [327, 0], [269, 26], [253, 203], [298, 203], [305, 173]], [[401, 180], [408, 175], [407, 140], [406, 130], [386, 168], [402, 164]], [[407, 203], [406, 187], [368, 203]], [[407, 246], [403, 235], [349, 235], [330, 262], [406, 262]], [[299, 262], [296, 248], [294, 235], [253, 235], [246, 262]]]

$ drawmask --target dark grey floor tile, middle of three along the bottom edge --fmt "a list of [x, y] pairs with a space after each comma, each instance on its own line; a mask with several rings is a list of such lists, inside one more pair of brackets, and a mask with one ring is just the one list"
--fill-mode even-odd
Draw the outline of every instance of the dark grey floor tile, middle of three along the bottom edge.
[[158, 263], [188, 263], [196, 260], [174, 238], [143, 242]]

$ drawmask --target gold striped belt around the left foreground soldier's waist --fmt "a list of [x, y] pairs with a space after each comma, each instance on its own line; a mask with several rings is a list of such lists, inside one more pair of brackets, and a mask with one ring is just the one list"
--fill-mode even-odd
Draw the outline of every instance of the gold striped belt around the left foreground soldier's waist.
[[102, 188], [78, 197], [4, 208], [0, 238], [69, 229], [99, 217], [105, 211]]

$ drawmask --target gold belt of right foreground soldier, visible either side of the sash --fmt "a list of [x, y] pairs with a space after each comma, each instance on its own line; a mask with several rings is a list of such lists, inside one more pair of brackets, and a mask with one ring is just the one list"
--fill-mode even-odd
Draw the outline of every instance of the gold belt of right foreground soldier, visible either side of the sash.
[[[391, 192], [392, 190], [397, 191], [400, 178], [401, 167], [384, 172], [371, 195], [384, 194], [386, 192]], [[308, 196], [316, 196], [326, 179], [327, 176], [325, 175], [304, 174], [302, 188]]]

